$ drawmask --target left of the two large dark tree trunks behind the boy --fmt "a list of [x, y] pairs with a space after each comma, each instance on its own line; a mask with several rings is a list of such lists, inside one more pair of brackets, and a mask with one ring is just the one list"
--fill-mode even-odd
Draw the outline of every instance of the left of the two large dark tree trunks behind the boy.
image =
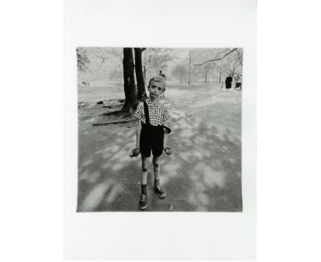
[[125, 91], [125, 104], [123, 105], [123, 110], [132, 112], [138, 105], [135, 90], [132, 48], [123, 49], [123, 90]]

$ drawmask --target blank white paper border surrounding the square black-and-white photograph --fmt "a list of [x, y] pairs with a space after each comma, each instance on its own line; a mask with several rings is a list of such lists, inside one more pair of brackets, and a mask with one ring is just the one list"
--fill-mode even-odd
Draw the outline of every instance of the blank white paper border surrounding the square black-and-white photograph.
[[[64, 12], [65, 259], [254, 259], [255, 1], [66, 0]], [[78, 46], [243, 47], [243, 213], [75, 213]]]

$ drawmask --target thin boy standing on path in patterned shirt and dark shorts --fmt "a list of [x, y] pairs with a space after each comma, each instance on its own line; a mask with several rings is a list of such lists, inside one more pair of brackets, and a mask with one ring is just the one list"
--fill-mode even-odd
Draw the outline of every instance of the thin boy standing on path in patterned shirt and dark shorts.
[[147, 171], [150, 167], [151, 151], [153, 154], [152, 163], [154, 166], [154, 191], [158, 197], [165, 198], [165, 191], [160, 186], [159, 158], [163, 150], [167, 155], [171, 154], [171, 148], [167, 147], [168, 129], [164, 123], [169, 119], [167, 106], [158, 101], [160, 95], [165, 91], [166, 81], [162, 76], [156, 76], [150, 80], [147, 91], [150, 97], [137, 106], [134, 117], [139, 119], [136, 132], [136, 148], [141, 153], [141, 200], [139, 208], [147, 208]]

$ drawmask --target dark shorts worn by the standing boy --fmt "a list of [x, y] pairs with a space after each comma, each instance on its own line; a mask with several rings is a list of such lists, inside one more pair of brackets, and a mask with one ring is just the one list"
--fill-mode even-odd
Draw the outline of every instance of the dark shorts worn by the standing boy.
[[152, 126], [142, 123], [141, 139], [139, 143], [141, 156], [150, 157], [151, 150], [153, 156], [161, 156], [161, 154], [163, 154], [163, 144], [163, 126]]

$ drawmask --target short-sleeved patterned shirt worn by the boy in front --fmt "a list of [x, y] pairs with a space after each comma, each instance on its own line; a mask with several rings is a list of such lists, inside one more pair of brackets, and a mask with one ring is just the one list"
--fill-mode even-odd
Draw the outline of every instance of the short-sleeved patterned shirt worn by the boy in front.
[[[152, 103], [148, 99], [146, 100], [146, 103], [148, 106], [148, 115], [150, 115], [150, 124], [152, 126], [163, 126], [164, 121], [169, 119], [169, 110], [167, 106], [158, 101]], [[134, 117], [141, 119], [143, 123], [146, 123], [143, 102], [139, 103], [137, 106]]]

